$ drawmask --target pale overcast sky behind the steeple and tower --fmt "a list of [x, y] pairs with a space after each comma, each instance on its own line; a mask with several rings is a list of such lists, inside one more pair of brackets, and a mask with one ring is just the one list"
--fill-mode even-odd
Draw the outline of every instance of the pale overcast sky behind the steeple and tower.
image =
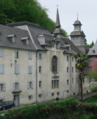
[[56, 22], [57, 5], [61, 27], [70, 35], [74, 30], [73, 23], [78, 19], [82, 23], [87, 43], [97, 40], [97, 0], [38, 0], [48, 9], [48, 16]]

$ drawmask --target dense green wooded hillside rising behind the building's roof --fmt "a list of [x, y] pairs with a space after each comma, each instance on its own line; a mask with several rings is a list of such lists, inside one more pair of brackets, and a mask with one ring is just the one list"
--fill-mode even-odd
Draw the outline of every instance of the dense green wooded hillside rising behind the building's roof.
[[[0, 0], [0, 24], [28, 21], [46, 27], [53, 33], [55, 22], [47, 12], [48, 9], [37, 0]], [[63, 32], [67, 37], [65, 30]]]

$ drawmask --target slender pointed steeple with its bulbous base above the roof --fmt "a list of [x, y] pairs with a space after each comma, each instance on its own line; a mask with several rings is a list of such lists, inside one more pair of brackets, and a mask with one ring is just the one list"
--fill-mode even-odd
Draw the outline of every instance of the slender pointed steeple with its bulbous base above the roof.
[[60, 29], [60, 27], [61, 27], [61, 24], [60, 24], [60, 18], [59, 18], [59, 11], [58, 11], [58, 8], [57, 8], [56, 29], [54, 31], [54, 36], [56, 36], [56, 37], [61, 37], [62, 36], [63, 32]]

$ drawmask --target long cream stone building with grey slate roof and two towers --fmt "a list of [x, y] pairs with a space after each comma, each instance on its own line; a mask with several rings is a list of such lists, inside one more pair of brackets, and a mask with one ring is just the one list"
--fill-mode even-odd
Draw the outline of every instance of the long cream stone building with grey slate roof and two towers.
[[88, 52], [80, 21], [70, 36], [62, 35], [58, 10], [53, 34], [26, 21], [0, 25], [0, 101], [18, 106], [77, 95], [73, 55]]

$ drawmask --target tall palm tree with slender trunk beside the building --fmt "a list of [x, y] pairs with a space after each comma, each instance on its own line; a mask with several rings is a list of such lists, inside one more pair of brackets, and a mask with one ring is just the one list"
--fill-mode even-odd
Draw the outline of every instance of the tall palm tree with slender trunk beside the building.
[[88, 64], [88, 55], [86, 54], [79, 54], [77, 53], [76, 55], [74, 55], [74, 58], [76, 60], [75, 63], [75, 67], [78, 69], [79, 71], [79, 79], [80, 79], [80, 91], [81, 91], [81, 101], [83, 101], [83, 86], [82, 86], [82, 80], [83, 80], [83, 76], [84, 76], [84, 69], [87, 67]]

